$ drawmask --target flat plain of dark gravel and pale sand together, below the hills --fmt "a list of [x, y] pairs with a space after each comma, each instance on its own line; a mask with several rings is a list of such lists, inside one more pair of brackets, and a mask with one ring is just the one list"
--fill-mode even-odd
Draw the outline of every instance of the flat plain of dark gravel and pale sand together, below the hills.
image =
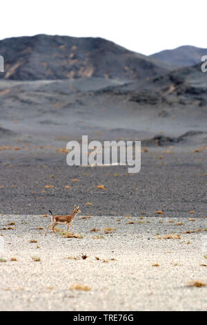
[[[69, 167], [54, 148], [3, 149], [1, 310], [206, 310], [199, 148], [148, 147], [138, 174]], [[74, 204], [76, 236], [65, 225], [45, 236], [48, 210], [68, 214]]]

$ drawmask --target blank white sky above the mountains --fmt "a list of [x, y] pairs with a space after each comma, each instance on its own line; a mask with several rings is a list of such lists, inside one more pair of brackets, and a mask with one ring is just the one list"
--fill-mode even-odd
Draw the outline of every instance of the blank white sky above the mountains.
[[37, 34], [103, 37], [146, 55], [207, 48], [206, 0], [6, 0], [0, 39]]

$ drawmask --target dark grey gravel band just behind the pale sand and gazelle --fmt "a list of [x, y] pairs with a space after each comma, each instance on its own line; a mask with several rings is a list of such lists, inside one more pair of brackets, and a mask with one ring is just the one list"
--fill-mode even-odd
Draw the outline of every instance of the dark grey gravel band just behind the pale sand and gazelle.
[[205, 216], [206, 152], [165, 150], [143, 153], [133, 175], [126, 166], [69, 167], [55, 150], [1, 151], [0, 213], [59, 214], [79, 204], [86, 215]]

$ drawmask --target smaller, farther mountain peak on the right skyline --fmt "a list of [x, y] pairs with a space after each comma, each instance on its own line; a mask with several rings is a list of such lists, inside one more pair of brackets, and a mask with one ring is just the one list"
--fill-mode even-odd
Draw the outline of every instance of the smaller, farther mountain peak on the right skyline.
[[161, 52], [149, 55], [149, 57], [179, 68], [199, 64], [203, 55], [207, 55], [207, 48], [186, 45], [172, 50], [162, 50]]

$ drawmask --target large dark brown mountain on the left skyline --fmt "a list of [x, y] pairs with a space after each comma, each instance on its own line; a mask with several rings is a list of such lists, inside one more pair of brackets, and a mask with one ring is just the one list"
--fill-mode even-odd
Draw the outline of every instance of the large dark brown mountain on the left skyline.
[[140, 80], [169, 71], [153, 58], [93, 37], [35, 35], [0, 41], [6, 80], [104, 77]]

